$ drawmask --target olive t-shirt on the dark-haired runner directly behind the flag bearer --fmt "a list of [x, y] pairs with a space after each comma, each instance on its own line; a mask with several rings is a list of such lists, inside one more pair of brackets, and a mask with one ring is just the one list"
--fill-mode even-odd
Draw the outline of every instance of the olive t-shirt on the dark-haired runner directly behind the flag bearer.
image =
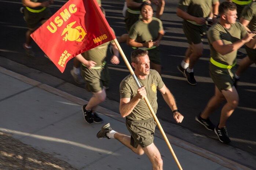
[[158, 32], [162, 29], [163, 26], [160, 19], [153, 17], [150, 23], [144, 23], [142, 20], [138, 20], [132, 25], [129, 31], [129, 38], [141, 43], [150, 40], [155, 41], [158, 38]]

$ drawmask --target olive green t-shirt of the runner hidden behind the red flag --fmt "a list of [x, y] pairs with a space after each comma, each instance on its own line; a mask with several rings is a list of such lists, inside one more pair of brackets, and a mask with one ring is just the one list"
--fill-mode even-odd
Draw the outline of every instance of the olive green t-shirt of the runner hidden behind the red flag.
[[[113, 29], [112, 29], [112, 31], [115, 34]], [[114, 44], [114, 41], [112, 40], [112, 41], [106, 42], [102, 45], [99, 45], [99, 46], [93, 48], [93, 49], [83, 52], [82, 56], [85, 58], [85, 60], [94, 61], [96, 63], [95, 67], [98, 67], [98, 66], [102, 65], [102, 63], [106, 60], [107, 48], [109, 46], [109, 43]]]

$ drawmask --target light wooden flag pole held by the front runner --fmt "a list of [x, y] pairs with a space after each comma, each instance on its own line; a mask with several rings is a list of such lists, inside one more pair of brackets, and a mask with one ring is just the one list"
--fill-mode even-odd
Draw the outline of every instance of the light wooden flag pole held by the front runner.
[[[125, 57], [125, 54], [124, 54], [124, 52], [122, 51], [122, 48], [121, 48], [121, 46], [119, 45], [119, 43], [118, 43], [118, 41], [117, 41], [116, 38], [114, 39], [114, 42], [115, 42], [115, 44], [116, 44], [116, 46], [117, 46], [117, 48], [118, 48], [118, 50], [119, 50], [119, 52], [120, 52], [122, 58], [124, 59], [124, 62], [125, 62], [125, 64], [127, 65], [127, 67], [128, 67], [128, 69], [129, 69], [131, 75], [134, 77], [137, 86], [138, 86], [138, 87], [141, 87], [140, 84], [139, 84], [139, 81], [138, 81], [138, 79], [137, 79], [137, 77], [136, 77], [136, 75], [135, 75], [135, 73], [134, 73], [134, 71], [133, 71], [133, 69], [132, 69], [132, 67], [131, 67], [131, 65], [129, 64], [129, 61], [128, 61], [127, 58]], [[151, 105], [150, 105], [150, 103], [149, 103], [149, 100], [147, 99], [146, 96], [144, 97], [144, 100], [145, 100], [145, 102], [147, 103], [147, 106], [149, 107], [149, 110], [150, 110], [151, 114], [153, 115], [154, 120], [156, 121], [157, 126], [158, 126], [159, 130], [161, 131], [162, 136], [164, 137], [164, 140], [165, 140], [165, 142], [167, 143], [167, 145], [168, 145], [168, 147], [169, 147], [169, 149], [170, 149], [170, 151], [171, 151], [171, 153], [172, 153], [173, 158], [175, 159], [177, 165], [179, 166], [179, 169], [180, 169], [180, 170], [183, 170], [182, 167], [180, 166], [179, 160], [177, 159], [177, 157], [176, 157], [176, 155], [175, 155], [175, 153], [174, 153], [174, 151], [173, 151], [173, 149], [172, 149], [172, 146], [171, 146], [171, 144], [169, 143], [169, 140], [167, 139], [167, 136], [165, 135], [164, 130], [162, 129], [162, 126], [161, 126], [160, 122], [158, 121], [158, 118], [156, 117], [156, 114], [154, 113], [154, 110], [153, 110], [153, 108], [151, 107]]]

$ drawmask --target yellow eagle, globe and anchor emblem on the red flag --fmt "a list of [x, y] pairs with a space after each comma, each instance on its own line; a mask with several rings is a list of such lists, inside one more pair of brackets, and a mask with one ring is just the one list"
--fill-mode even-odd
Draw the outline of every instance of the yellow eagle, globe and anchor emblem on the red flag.
[[72, 26], [76, 23], [76, 21], [67, 24], [67, 27], [63, 30], [62, 35], [64, 35], [65, 33], [65, 37], [63, 37], [63, 41], [78, 41], [81, 42], [85, 35], [87, 33], [85, 33], [84, 29], [81, 26], [77, 26], [75, 28], [72, 28]]

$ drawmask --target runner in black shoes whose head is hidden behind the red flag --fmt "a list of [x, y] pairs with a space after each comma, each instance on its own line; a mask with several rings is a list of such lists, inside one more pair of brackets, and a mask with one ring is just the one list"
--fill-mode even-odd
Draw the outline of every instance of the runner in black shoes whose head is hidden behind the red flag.
[[[104, 8], [100, 7], [100, 10], [105, 16]], [[113, 29], [112, 31], [114, 33]], [[109, 69], [106, 61], [109, 44], [113, 50], [110, 62], [119, 64], [119, 51], [113, 40], [76, 56], [76, 59], [82, 63], [81, 72], [85, 81], [85, 89], [93, 94], [89, 102], [82, 106], [84, 120], [88, 124], [103, 122], [95, 110], [100, 103], [105, 101], [106, 88], [109, 88]]]

